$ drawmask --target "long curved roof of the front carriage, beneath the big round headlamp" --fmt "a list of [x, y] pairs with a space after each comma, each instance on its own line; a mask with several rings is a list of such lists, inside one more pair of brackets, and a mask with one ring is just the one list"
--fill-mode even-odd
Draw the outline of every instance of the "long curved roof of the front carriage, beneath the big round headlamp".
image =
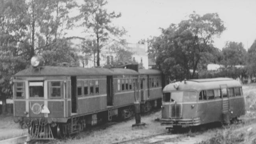
[[15, 74], [15, 76], [76, 76], [76, 75], [138, 75], [135, 70], [124, 68], [82, 68], [42, 66], [39, 68], [27, 68]]

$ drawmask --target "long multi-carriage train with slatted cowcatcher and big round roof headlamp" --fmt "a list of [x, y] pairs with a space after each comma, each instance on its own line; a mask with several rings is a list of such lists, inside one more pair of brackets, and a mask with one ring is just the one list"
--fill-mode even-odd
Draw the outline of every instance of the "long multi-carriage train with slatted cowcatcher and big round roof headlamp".
[[148, 111], [162, 95], [158, 70], [31, 66], [12, 81], [14, 121], [24, 124], [32, 139], [63, 137], [99, 121], [128, 118], [135, 101]]

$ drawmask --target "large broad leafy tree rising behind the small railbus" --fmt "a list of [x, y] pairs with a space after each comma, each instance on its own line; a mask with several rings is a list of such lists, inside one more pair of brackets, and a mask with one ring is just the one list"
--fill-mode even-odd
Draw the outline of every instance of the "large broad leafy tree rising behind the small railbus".
[[[188, 20], [171, 24], [167, 29], [161, 28], [162, 34], [152, 39], [150, 51], [156, 56], [156, 63], [161, 69], [171, 68], [164, 72], [182, 72], [185, 74], [183, 78], [194, 78], [200, 61], [213, 51], [213, 37], [224, 30], [223, 21], [217, 13], [203, 16], [193, 13]], [[190, 69], [193, 70], [191, 76]]]

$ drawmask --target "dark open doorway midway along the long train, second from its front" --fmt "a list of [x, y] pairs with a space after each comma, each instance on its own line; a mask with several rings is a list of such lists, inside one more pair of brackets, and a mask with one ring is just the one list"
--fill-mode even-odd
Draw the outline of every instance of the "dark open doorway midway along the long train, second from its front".
[[107, 76], [107, 105], [113, 105], [113, 76]]

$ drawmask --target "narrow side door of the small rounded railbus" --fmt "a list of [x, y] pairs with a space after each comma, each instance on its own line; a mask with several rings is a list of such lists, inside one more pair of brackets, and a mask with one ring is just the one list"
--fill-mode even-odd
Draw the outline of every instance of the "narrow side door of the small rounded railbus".
[[220, 85], [221, 87], [221, 98], [222, 98], [222, 113], [228, 113], [229, 111], [229, 98], [227, 85]]

